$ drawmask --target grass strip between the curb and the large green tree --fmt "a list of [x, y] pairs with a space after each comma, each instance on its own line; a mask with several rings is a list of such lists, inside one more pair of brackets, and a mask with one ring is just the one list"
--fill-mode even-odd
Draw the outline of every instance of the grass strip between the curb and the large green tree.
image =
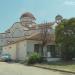
[[75, 72], [75, 61], [68, 61], [68, 62], [57, 61], [57, 62], [50, 62], [48, 64], [44, 63], [38, 65], [46, 68]]

